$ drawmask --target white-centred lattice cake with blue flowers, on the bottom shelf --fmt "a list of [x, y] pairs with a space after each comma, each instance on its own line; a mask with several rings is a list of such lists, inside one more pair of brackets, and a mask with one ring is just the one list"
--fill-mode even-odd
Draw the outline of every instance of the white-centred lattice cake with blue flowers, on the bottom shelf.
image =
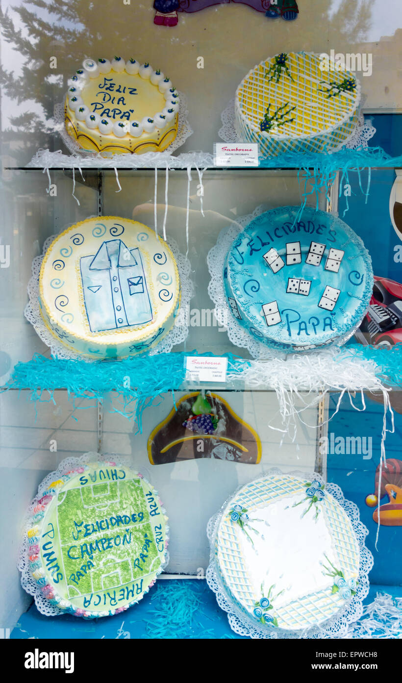
[[352, 522], [320, 478], [277, 473], [243, 486], [210, 540], [219, 589], [251, 627], [314, 628], [368, 590]]

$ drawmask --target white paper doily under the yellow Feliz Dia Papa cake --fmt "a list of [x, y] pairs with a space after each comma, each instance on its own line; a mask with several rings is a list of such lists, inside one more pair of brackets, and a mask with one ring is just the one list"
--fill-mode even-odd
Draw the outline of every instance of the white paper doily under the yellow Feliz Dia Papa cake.
[[[187, 98], [186, 96], [182, 93], [179, 92], [180, 95], [180, 107], [179, 107], [179, 117], [178, 117], [178, 122], [177, 122], [177, 135], [174, 138], [174, 140], [170, 143], [170, 145], [164, 150], [167, 154], [172, 154], [173, 152], [176, 152], [176, 150], [181, 147], [185, 143], [188, 137], [190, 135], [193, 135], [194, 130], [191, 128], [187, 117], [189, 115], [188, 111], [188, 105], [187, 105]], [[99, 152], [90, 152], [89, 150], [83, 150], [80, 145], [78, 145], [78, 142], [74, 140], [72, 137], [70, 137], [67, 133], [67, 130], [65, 128], [65, 122], [64, 122], [64, 103], [63, 104], [55, 104], [55, 109], [54, 109], [54, 120], [55, 120], [55, 129], [60, 133], [61, 138], [63, 139], [63, 143], [67, 147], [67, 149], [72, 153], [72, 154], [79, 154], [80, 156], [89, 156], [90, 158], [96, 158], [97, 161], [97, 166], [99, 166], [99, 161], [104, 159], [104, 161], [108, 161], [108, 165], [112, 163], [113, 166], [119, 166], [120, 165], [120, 160], [121, 156], [131, 156], [133, 158], [133, 163], [132, 167], [136, 167], [136, 158], [138, 156], [141, 156], [141, 154], [107, 154], [104, 153], [104, 156], [102, 156], [102, 153]], [[161, 152], [153, 152], [153, 154], [161, 154]]]

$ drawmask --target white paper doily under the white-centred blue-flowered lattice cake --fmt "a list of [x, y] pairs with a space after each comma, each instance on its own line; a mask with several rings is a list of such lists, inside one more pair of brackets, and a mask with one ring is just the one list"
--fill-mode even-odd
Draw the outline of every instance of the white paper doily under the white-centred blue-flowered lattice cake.
[[[282, 474], [281, 470], [277, 468], [270, 469], [264, 476], [270, 476], [275, 474]], [[308, 479], [313, 481], [313, 479], [319, 479], [320, 482], [324, 483], [322, 477], [317, 473], [306, 474], [302, 472], [290, 472], [290, 475], [295, 477], [301, 477], [303, 479]], [[219, 579], [219, 575], [215, 571], [215, 535], [217, 533], [217, 528], [221, 520], [221, 515], [223, 510], [225, 510], [228, 502], [234, 497], [237, 491], [241, 490], [244, 485], [239, 486], [238, 489], [228, 497], [228, 499], [223, 503], [221, 509], [217, 514], [215, 514], [208, 521], [206, 527], [206, 535], [208, 536], [208, 541], [211, 545], [211, 557], [209, 561], [208, 568], [206, 570], [206, 583], [215, 593], [217, 598], [217, 603], [219, 607], [228, 613], [228, 621], [230, 628], [241, 636], [248, 636], [253, 639], [299, 639], [299, 638], [334, 638], [334, 637], [345, 637], [347, 635], [347, 630], [350, 624], [356, 622], [363, 613], [362, 601], [365, 599], [369, 593], [369, 572], [373, 567], [373, 555], [365, 546], [365, 538], [369, 533], [367, 527], [360, 522], [360, 515], [358, 507], [352, 501], [347, 501], [343, 496], [341, 488], [337, 484], [326, 484], [326, 490], [337, 500], [339, 505], [343, 507], [345, 514], [350, 519], [354, 532], [358, 540], [359, 550], [360, 550], [360, 566], [358, 574], [358, 586], [356, 589], [356, 595], [354, 595], [345, 607], [341, 607], [337, 614], [328, 619], [322, 626], [313, 626], [312, 628], [307, 628], [303, 631], [289, 631], [281, 628], [263, 628], [258, 626], [256, 622], [253, 622], [251, 618], [248, 618], [243, 612], [236, 608], [236, 605], [230, 602], [230, 597], [226, 593]]]

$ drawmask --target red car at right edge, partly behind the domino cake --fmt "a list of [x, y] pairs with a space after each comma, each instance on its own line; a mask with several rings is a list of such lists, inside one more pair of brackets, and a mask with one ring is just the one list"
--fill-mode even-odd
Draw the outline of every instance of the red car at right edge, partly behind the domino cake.
[[402, 342], [402, 284], [374, 276], [373, 295], [355, 338], [360, 344], [394, 346]]

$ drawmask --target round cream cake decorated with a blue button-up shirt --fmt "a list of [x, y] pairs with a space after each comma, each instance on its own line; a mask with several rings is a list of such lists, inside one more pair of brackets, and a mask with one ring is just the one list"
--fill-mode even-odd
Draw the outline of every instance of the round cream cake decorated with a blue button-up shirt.
[[170, 247], [142, 223], [98, 217], [52, 242], [40, 270], [40, 311], [52, 335], [93, 359], [153, 348], [180, 304]]

